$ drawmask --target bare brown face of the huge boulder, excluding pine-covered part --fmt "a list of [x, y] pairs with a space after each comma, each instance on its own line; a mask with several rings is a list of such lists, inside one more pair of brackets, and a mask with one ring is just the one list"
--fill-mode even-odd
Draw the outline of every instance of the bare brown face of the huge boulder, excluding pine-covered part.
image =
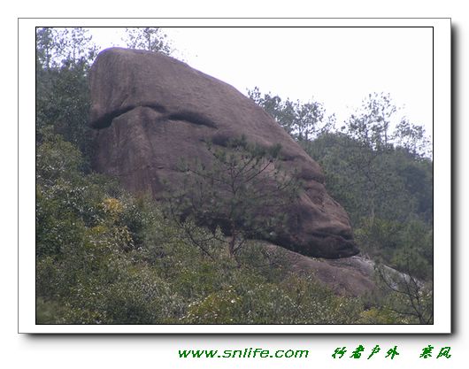
[[319, 165], [232, 86], [164, 55], [112, 48], [96, 58], [90, 88], [96, 171], [158, 199], [163, 182], [181, 184], [181, 158], [211, 160], [204, 141], [222, 145], [245, 135], [265, 147], [280, 143], [281, 168], [296, 168], [303, 189], [298, 203], [285, 209], [295, 224], [269, 241], [318, 258], [358, 253], [348, 216], [327, 195]]

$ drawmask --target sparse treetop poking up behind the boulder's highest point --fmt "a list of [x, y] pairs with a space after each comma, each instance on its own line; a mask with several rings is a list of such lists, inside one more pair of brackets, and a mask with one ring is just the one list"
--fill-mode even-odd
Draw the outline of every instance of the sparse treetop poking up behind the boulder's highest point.
[[126, 28], [126, 37], [123, 39], [127, 48], [142, 49], [161, 52], [171, 55], [173, 47], [167, 41], [161, 27], [130, 27]]

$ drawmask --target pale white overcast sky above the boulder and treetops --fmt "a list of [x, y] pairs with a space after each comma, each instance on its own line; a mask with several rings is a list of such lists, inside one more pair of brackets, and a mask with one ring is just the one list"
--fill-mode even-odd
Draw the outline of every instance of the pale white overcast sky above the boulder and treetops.
[[[89, 28], [103, 49], [122, 28]], [[174, 56], [243, 94], [258, 87], [318, 101], [337, 126], [370, 93], [388, 93], [402, 117], [433, 134], [432, 29], [423, 27], [167, 27]]]

